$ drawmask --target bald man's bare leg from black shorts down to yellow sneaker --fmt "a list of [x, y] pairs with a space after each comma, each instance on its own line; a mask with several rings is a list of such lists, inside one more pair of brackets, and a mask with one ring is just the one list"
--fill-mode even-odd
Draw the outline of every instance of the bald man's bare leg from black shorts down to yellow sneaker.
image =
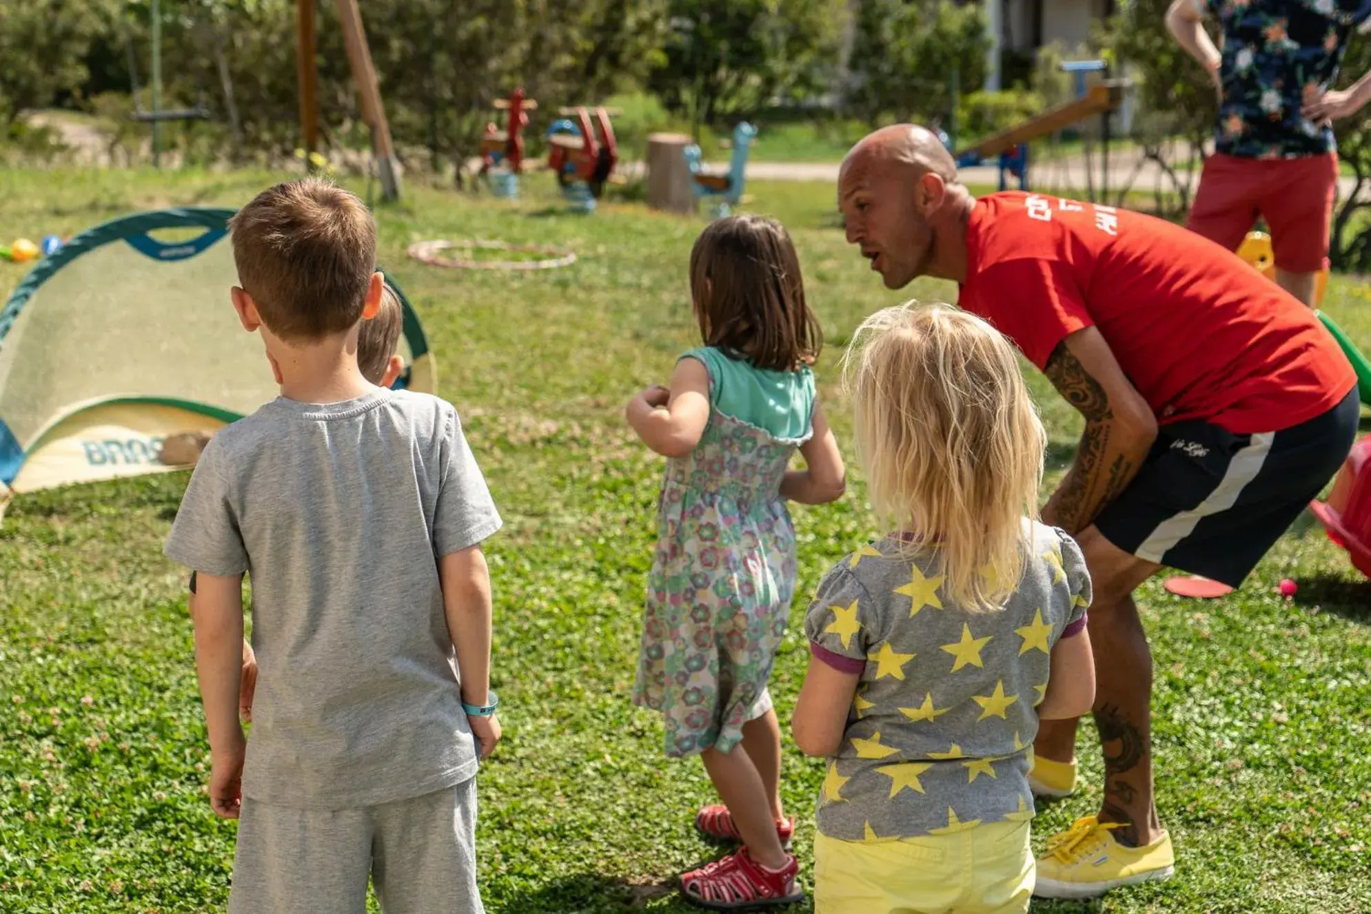
[[1089, 610], [1093, 711], [1105, 756], [1100, 821], [1123, 824], [1113, 832], [1123, 844], [1150, 844], [1161, 830], [1152, 791], [1152, 652], [1132, 591], [1157, 566], [1119, 549], [1093, 526], [1076, 541], [1094, 585]]

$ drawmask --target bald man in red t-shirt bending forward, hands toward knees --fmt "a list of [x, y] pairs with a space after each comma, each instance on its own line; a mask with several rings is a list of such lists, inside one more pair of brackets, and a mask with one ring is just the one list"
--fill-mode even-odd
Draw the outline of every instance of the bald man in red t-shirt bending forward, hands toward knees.
[[[838, 203], [847, 241], [888, 288], [957, 282], [960, 307], [1013, 340], [1084, 418], [1042, 519], [1075, 536], [1094, 582], [1104, 803], [1038, 861], [1035, 893], [1094, 898], [1167, 878], [1152, 655], [1132, 592], [1163, 566], [1242, 582], [1348, 455], [1352, 366], [1312, 311], [1213, 241], [1050, 195], [978, 200], [921, 127], [858, 143]], [[1073, 791], [1076, 725], [1042, 722], [1035, 793]]]

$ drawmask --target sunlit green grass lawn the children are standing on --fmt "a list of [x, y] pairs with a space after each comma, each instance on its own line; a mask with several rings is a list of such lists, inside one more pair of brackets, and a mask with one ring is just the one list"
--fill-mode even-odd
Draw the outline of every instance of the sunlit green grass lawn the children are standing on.
[[[0, 240], [69, 233], [148, 206], [239, 206], [265, 173], [0, 171]], [[356, 185], [363, 186], [363, 185]], [[488, 910], [687, 911], [669, 887], [716, 848], [692, 832], [713, 795], [698, 762], [662, 756], [629, 702], [662, 460], [621, 421], [694, 345], [686, 263], [699, 219], [606, 201], [562, 211], [543, 178], [521, 204], [407, 188], [378, 210], [384, 266], [406, 289], [507, 526], [488, 544], [494, 687], [505, 741], [480, 774]], [[838, 356], [860, 318], [947, 284], [886, 291], [835, 227], [832, 188], [753, 182], [799, 247], [828, 345], [818, 374], [845, 456]], [[557, 244], [542, 273], [455, 271], [404, 256], [418, 238]], [[0, 264], [0, 291], [25, 269]], [[1367, 288], [1337, 278], [1327, 310], [1371, 348]], [[229, 307], [228, 295], [223, 307]], [[1053, 478], [1080, 425], [1034, 371]], [[794, 511], [801, 593], [875, 533], [860, 473], [836, 504]], [[188, 474], [19, 497], [0, 526], [0, 910], [222, 910], [236, 825], [203, 785], [208, 747], [184, 571], [160, 555]], [[1283, 577], [1300, 582], [1285, 600]], [[1301, 519], [1234, 596], [1141, 592], [1156, 658], [1156, 765], [1172, 881], [1035, 911], [1371, 909], [1371, 584]], [[772, 691], [788, 721], [806, 663], [799, 619]], [[1042, 807], [1035, 847], [1100, 802], [1094, 730], [1083, 789]], [[788, 743], [784, 796], [812, 863], [823, 765]], [[809, 910], [801, 906], [797, 910]]]

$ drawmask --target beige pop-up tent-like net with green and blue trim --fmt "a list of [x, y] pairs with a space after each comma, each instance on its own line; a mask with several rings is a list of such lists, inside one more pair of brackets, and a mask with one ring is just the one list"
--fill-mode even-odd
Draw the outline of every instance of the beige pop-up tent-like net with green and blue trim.
[[[221, 428], [278, 393], [244, 333], [233, 210], [106, 222], [41, 260], [0, 310], [0, 515], [12, 492], [170, 470], [162, 441]], [[418, 317], [404, 312], [396, 386], [433, 391]]]

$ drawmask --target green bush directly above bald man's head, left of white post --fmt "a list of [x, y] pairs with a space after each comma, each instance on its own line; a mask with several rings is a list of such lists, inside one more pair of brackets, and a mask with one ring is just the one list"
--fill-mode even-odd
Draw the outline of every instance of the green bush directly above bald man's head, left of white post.
[[984, 82], [988, 47], [980, 4], [858, 0], [847, 104], [872, 125], [890, 116], [943, 122], [957, 85]]

